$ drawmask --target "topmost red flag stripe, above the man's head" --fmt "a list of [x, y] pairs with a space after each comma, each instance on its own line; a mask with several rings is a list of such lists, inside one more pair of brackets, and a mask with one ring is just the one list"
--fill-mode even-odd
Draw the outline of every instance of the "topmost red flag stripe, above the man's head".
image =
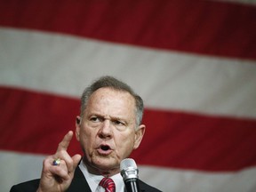
[[256, 7], [214, 1], [2, 1], [0, 25], [256, 59]]

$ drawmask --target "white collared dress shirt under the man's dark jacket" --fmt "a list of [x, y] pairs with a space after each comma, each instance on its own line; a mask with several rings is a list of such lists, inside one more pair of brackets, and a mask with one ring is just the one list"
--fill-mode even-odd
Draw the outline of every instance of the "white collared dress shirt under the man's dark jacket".
[[[90, 172], [88, 172], [88, 169], [83, 161], [80, 162], [78, 165], [80, 170], [83, 172], [84, 177], [86, 178], [89, 187], [91, 188], [92, 192], [105, 192], [105, 188], [102, 188], [99, 186], [100, 180], [103, 179], [102, 175], [94, 175]], [[124, 191], [124, 180], [120, 173], [113, 175], [110, 177], [112, 180], [114, 180], [116, 184], [116, 191]]]

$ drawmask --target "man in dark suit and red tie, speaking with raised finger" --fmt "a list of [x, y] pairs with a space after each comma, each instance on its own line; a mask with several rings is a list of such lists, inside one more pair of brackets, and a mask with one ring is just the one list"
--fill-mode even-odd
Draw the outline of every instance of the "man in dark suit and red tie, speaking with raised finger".
[[[44, 159], [41, 179], [13, 186], [11, 191], [108, 191], [104, 184], [111, 178], [111, 188], [116, 188], [113, 191], [123, 192], [120, 163], [140, 146], [145, 132], [142, 115], [143, 100], [131, 87], [112, 76], [101, 77], [84, 90], [81, 113], [76, 116], [82, 160], [80, 155], [68, 155], [73, 137], [70, 131], [56, 153]], [[140, 191], [159, 191], [141, 180], [139, 185]]]

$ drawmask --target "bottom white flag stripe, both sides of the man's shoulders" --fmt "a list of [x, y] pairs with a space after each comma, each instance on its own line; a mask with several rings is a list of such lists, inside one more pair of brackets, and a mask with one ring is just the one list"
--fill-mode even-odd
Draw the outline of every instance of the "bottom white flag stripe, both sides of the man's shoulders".
[[[43, 159], [44, 156], [1, 151], [1, 191], [9, 191], [14, 184], [39, 178]], [[163, 191], [249, 192], [256, 189], [256, 167], [240, 172], [196, 172], [140, 164], [138, 167], [140, 180]]]

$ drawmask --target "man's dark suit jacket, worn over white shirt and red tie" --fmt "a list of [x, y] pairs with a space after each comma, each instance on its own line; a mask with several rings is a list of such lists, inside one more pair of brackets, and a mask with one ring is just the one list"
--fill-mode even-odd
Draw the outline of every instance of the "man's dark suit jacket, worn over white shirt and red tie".
[[[10, 192], [36, 192], [36, 189], [39, 186], [40, 180], [29, 180], [27, 182], [20, 183], [18, 185], [12, 186]], [[140, 192], [161, 192], [157, 188], [153, 188], [143, 181], [139, 180]], [[71, 182], [67, 192], [91, 192], [91, 189], [87, 183], [87, 180], [84, 178], [83, 172], [76, 167], [76, 172], [74, 179]], [[119, 191], [116, 191], [119, 192]]]

